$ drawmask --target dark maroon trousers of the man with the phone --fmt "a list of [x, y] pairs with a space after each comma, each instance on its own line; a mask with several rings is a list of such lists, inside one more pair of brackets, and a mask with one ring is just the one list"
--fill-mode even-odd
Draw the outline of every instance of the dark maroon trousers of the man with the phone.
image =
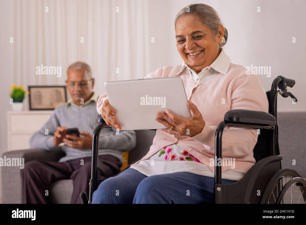
[[[81, 160], [84, 160], [83, 164], [81, 164]], [[122, 163], [114, 156], [99, 156], [98, 179], [118, 174], [121, 165]], [[71, 203], [80, 204], [80, 193], [84, 191], [87, 196], [89, 194], [91, 157], [78, 158], [67, 162], [30, 161], [24, 165], [21, 176], [22, 203], [24, 204], [51, 203], [50, 185], [52, 182], [61, 179], [73, 180]]]

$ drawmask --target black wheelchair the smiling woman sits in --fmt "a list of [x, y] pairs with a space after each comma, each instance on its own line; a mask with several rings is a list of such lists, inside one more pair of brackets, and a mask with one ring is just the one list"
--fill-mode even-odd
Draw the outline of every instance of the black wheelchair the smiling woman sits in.
[[[297, 98], [287, 91], [287, 87], [292, 88], [294, 85], [295, 80], [286, 79], [283, 76], [278, 76], [273, 80], [271, 90], [266, 92], [269, 101], [269, 113], [234, 109], [224, 115], [224, 120], [218, 125], [215, 134], [215, 157], [217, 159], [222, 158], [222, 133], [225, 127], [257, 129], [257, 132], [260, 133], [253, 149], [256, 163], [245, 173], [242, 179], [232, 184], [222, 184], [222, 166], [215, 165], [215, 204], [306, 203], [306, 181], [292, 168], [282, 168], [282, 156], [278, 146], [277, 96], [278, 93], [285, 98], [290, 96], [293, 99], [292, 101], [297, 102]], [[101, 115], [98, 116], [97, 123], [92, 137], [89, 199], [85, 192], [80, 194], [81, 201], [84, 204], [91, 204], [93, 192], [105, 180], [97, 178], [99, 135], [103, 128], [110, 126], [105, 123]], [[132, 164], [122, 171], [128, 169]], [[294, 192], [294, 190], [296, 191]]]

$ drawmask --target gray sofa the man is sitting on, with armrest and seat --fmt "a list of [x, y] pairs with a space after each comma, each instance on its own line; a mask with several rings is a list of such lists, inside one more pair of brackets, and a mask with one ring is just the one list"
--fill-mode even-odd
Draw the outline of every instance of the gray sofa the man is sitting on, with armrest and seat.
[[[136, 131], [137, 143], [135, 148], [129, 152], [129, 164], [147, 153], [154, 135], [155, 131], [151, 130]], [[58, 161], [65, 156], [65, 153], [60, 148], [52, 151], [26, 149], [5, 152], [2, 158], [4, 156], [6, 158], [24, 158], [24, 163], [27, 163], [32, 160]], [[71, 179], [52, 183], [49, 190], [52, 203], [70, 203], [72, 190], [73, 183]], [[19, 167], [2, 167], [2, 203], [21, 203], [21, 169]]]

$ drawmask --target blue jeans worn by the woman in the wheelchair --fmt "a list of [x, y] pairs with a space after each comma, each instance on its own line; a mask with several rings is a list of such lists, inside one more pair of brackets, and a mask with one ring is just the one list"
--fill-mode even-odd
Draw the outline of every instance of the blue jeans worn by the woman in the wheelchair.
[[[222, 184], [235, 183], [222, 179]], [[188, 172], [146, 176], [128, 168], [103, 181], [92, 203], [213, 203], [214, 178]]]

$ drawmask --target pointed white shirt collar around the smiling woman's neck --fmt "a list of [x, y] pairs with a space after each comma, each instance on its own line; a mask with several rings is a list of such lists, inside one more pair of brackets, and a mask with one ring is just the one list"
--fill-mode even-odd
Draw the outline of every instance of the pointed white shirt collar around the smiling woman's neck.
[[[181, 70], [176, 75], [179, 75], [185, 69], [185, 67], [193, 71], [192, 69], [189, 68], [189, 66], [185, 63], [185, 61], [183, 61]], [[215, 59], [215, 61], [213, 61], [213, 63], [210, 66], [203, 68], [201, 72], [207, 70], [208, 68], [213, 68], [215, 71], [226, 75], [229, 67], [230, 67], [230, 57], [228, 57], [225, 51], [221, 48], [221, 52], [218, 55], [218, 57]], [[192, 78], [192, 73], [190, 73], [190, 76]]]

